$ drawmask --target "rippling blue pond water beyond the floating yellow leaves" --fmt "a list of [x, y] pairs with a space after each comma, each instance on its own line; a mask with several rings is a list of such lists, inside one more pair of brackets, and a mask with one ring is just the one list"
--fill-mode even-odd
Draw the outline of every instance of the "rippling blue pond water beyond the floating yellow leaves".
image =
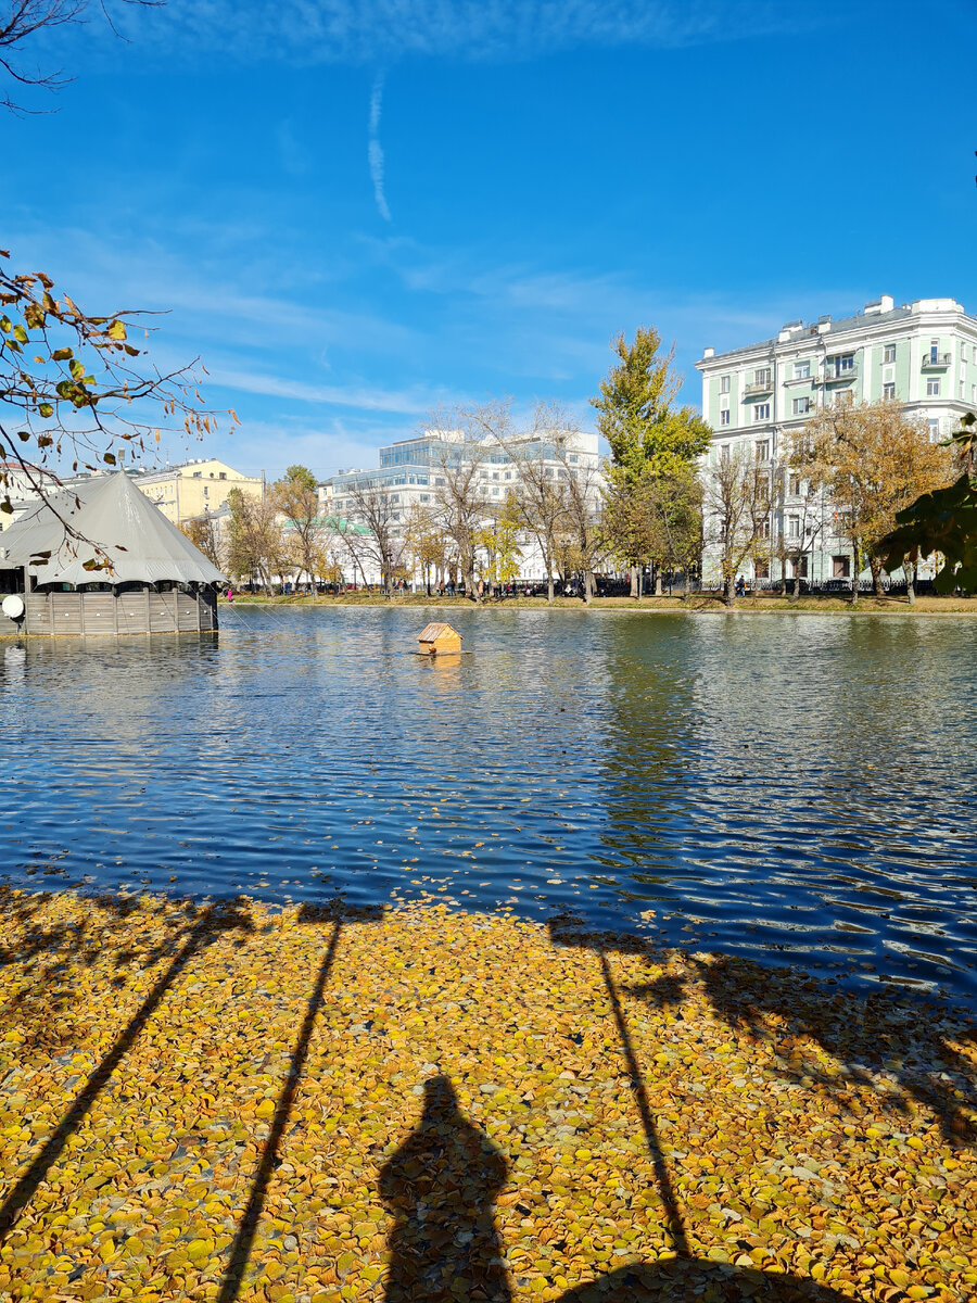
[[0, 644], [0, 881], [432, 894], [974, 993], [977, 623], [241, 609]]

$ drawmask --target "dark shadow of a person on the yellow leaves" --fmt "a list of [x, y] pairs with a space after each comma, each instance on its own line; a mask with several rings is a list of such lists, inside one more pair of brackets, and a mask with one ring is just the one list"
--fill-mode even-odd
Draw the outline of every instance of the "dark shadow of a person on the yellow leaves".
[[507, 1171], [488, 1136], [459, 1109], [448, 1078], [430, 1078], [421, 1121], [380, 1171], [380, 1197], [393, 1217], [387, 1303], [509, 1303], [492, 1220]]

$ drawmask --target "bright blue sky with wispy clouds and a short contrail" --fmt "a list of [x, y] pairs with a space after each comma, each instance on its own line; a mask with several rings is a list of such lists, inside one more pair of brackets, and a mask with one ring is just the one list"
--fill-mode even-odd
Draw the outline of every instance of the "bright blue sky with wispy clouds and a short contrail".
[[784, 321], [977, 311], [977, 4], [171, 0], [35, 44], [3, 240], [91, 311], [167, 309], [274, 476], [438, 403], [588, 397], [638, 324], [693, 362]]

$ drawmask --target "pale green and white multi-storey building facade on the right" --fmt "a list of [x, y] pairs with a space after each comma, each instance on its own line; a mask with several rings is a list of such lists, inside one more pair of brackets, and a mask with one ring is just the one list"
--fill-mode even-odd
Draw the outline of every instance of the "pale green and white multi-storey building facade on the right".
[[[713, 427], [706, 464], [748, 451], [771, 473], [770, 538], [796, 529], [802, 489], [787, 470], [789, 437], [821, 408], [894, 399], [921, 417], [931, 438], [959, 429], [977, 410], [977, 319], [954, 298], [920, 298], [896, 308], [888, 294], [853, 317], [788, 322], [758, 344], [696, 364], [702, 375], [702, 414]], [[805, 556], [814, 582], [851, 577], [851, 549], [832, 536], [823, 515]], [[791, 572], [789, 563], [784, 563]], [[780, 563], [752, 563], [746, 579], [780, 577]], [[866, 572], [862, 572], [866, 573]], [[716, 579], [716, 550], [707, 542], [703, 579]]]

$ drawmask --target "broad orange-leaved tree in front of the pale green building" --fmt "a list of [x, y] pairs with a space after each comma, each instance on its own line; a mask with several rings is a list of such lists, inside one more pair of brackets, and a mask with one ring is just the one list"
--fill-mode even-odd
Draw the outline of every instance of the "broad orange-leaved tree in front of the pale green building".
[[[950, 451], [933, 443], [926, 423], [895, 400], [823, 408], [805, 426], [802, 448], [806, 460], [799, 469], [823, 489], [832, 529], [852, 549], [852, 603], [866, 562], [881, 597], [882, 541], [895, 528], [896, 513], [950, 483]], [[918, 558], [907, 554], [903, 560], [912, 599]]]

